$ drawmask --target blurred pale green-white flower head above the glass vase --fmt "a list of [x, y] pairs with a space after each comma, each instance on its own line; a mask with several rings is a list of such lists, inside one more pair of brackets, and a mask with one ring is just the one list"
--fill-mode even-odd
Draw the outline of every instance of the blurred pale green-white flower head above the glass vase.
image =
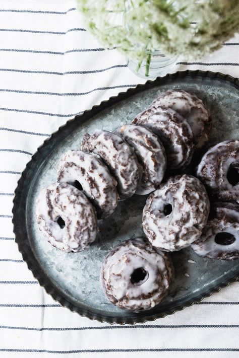
[[[78, 0], [87, 28], [128, 58], [198, 58], [239, 31], [238, 0]], [[146, 51], [147, 50], [147, 51]]]

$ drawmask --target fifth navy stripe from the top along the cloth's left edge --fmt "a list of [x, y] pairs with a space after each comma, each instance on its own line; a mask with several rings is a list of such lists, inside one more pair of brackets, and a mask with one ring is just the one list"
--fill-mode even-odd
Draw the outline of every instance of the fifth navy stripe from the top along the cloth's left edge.
[[49, 96], [84, 96], [88, 95], [89, 93], [95, 91], [105, 91], [105, 90], [114, 90], [116, 88], [129, 88], [135, 87], [136, 85], [119, 85], [119, 86], [111, 86], [111, 87], [98, 87], [94, 88], [93, 90], [87, 92], [79, 92], [79, 93], [58, 93], [58, 92], [41, 92], [41, 91], [23, 91], [23, 90], [9, 90], [9, 89], [0, 89], [0, 92], [14, 92], [14, 93], [24, 93], [28, 95], [49, 95]]

